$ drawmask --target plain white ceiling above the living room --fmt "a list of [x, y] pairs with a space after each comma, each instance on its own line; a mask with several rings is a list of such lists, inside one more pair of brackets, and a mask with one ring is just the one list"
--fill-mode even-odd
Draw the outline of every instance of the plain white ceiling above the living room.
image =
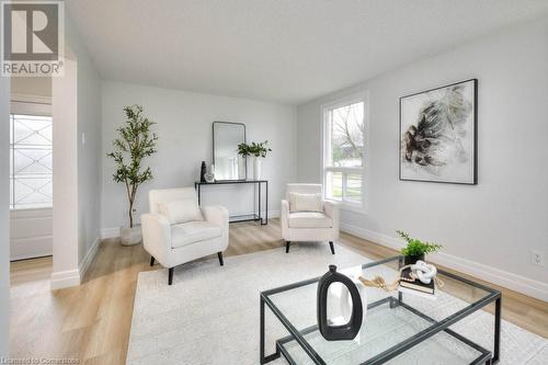
[[101, 72], [298, 104], [548, 13], [546, 0], [68, 0]]

